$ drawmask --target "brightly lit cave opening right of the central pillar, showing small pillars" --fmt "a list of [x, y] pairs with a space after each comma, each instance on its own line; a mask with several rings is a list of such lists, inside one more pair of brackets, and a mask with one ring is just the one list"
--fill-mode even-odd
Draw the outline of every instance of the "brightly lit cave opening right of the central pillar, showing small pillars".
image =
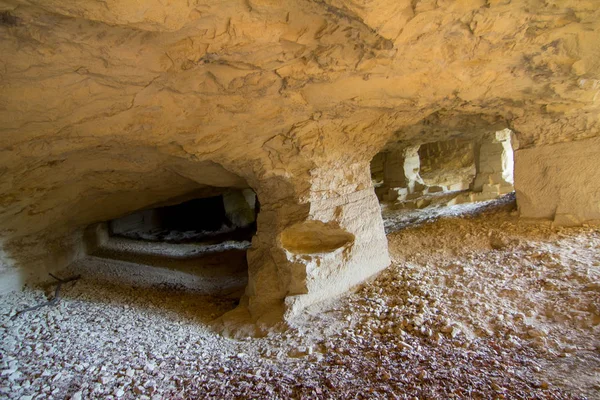
[[463, 215], [490, 201], [514, 202], [514, 134], [419, 144], [392, 143], [370, 164], [386, 232], [441, 215]]

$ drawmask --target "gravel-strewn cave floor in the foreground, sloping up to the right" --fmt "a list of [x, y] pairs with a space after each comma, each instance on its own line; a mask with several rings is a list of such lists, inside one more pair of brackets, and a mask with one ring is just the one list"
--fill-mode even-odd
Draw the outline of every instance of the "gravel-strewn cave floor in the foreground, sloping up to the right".
[[3, 295], [0, 397], [600, 398], [600, 229], [512, 200], [417, 222], [375, 279], [262, 338], [215, 333], [236, 300], [189, 288], [83, 273], [14, 320], [52, 287]]

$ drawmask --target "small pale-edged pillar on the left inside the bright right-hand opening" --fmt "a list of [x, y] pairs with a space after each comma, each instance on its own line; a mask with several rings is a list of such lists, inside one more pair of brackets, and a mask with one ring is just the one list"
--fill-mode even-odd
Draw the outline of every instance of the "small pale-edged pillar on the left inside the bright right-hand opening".
[[[384, 200], [395, 200], [423, 189], [423, 180], [419, 176], [421, 162], [419, 146], [409, 146], [399, 151], [388, 152], [384, 165], [383, 183], [388, 190]], [[404, 189], [404, 190], [397, 190]], [[385, 198], [387, 196], [387, 198]]]

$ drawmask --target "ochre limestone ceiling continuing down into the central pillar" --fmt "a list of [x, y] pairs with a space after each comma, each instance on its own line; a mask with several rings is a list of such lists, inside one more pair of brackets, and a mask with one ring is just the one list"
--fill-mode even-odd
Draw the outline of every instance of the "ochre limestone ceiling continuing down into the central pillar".
[[[367, 171], [391, 143], [600, 135], [595, 0], [2, 0], [0, 16], [2, 277], [64, 266], [90, 224], [251, 187], [247, 308], [294, 310], [385, 264]], [[281, 234], [306, 221], [354, 241], [299, 257]]]

